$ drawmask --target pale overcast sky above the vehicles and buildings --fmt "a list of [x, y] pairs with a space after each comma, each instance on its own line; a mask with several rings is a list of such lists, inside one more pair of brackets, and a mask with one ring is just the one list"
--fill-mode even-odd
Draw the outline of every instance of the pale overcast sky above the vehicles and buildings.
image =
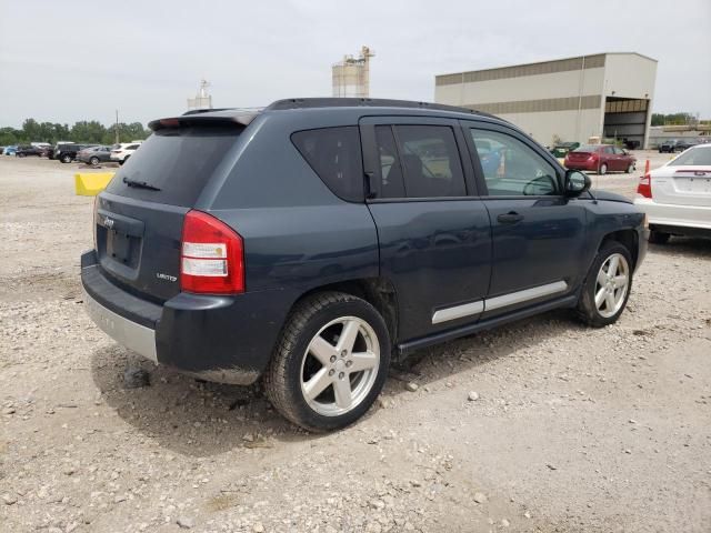
[[659, 60], [655, 112], [711, 119], [711, 1], [0, 0], [0, 127], [181, 113], [330, 95], [362, 44], [371, 97], [432, 100], [434, 74], [637, 51]]

